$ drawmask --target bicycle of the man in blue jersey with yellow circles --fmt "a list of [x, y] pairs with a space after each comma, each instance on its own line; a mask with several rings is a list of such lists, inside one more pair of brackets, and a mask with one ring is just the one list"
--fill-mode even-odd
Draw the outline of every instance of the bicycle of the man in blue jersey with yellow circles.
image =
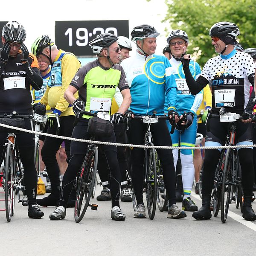
[[[131, 114], [127, 114], [126, 118], [129, 120], [131, 118]], [[152, 123], [157, 123], [158, 119], [169, 119], [168, 116], [156, 116], [156, 111], [153, 112], [153, 115], [146, 116], [134, 116], [134, 119], [141, 119], [143, 123], [148, 124], [148, 129], [145, 133], [145, 145], [153, 146], [152, 143], [153, 138], [150, 130], [150, 126]], [[175, 119], [175, 116], [173, 116]], [[172, 126], [172, 132], [174, 131], [174, 125]], [[148, 216], [152, 220], [154, 219], [156, 204], [157, 204], [157, 165], [156, 165], [156, 152], [154, 148], [145, 148], [145, 157], [143, 164], [143, 172], [144, 172], [144, 185], [143, 192], [146, 193], [146, 202], [148, 209]], [[134, 211], [136, 209], [136, 198], [134, 190], [132, 192], [133, 198], [133, 207]]]

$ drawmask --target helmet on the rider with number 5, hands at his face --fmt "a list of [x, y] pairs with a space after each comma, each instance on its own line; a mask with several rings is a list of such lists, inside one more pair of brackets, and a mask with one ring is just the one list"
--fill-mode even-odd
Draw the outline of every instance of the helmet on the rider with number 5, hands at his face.
[[22, 43], [26, 39], [26, 29], [17, 21], [9, 21], [3, 26], [2, 36], [8, 42]]

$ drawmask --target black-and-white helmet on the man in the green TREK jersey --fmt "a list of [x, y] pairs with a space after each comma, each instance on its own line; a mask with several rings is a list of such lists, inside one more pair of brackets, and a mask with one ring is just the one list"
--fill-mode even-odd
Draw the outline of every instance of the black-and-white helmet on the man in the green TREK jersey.
[[96, 38], [90, 41], [89, 45], [92, 48], [93, 53], [99, 54], [103, 48], [110, 47], [111, 44], [113, 44], [117, 40], [117, 36], [110, 33], [103, 33], [96, 36]]

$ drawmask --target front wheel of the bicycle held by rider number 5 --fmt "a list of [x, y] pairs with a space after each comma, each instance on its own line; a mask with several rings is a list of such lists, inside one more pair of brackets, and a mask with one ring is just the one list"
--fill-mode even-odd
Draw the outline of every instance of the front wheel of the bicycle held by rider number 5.
[[12, 145], [6, 146], [6, 156], [4, 159], [4, 190], [5, 190], [5, 205], [6, 219], [11, 221], [14, 212], [15, 201], [15, 186], [14, 186], [14, 158]]

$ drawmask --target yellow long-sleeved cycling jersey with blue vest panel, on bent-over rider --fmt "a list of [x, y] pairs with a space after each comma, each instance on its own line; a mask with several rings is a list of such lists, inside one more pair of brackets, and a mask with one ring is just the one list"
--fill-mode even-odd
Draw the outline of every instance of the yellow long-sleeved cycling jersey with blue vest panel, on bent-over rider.
[[[72, 105], [64, 99], [64, 91], [80, 67], [81, 63], [73, 53], [60, 49], [52, 64], [47, 90], [41, 103], [61, 111], [60, 116], [73, 116]], [[75, 97], [77, 98], [78, 95], [75, 94]]]

